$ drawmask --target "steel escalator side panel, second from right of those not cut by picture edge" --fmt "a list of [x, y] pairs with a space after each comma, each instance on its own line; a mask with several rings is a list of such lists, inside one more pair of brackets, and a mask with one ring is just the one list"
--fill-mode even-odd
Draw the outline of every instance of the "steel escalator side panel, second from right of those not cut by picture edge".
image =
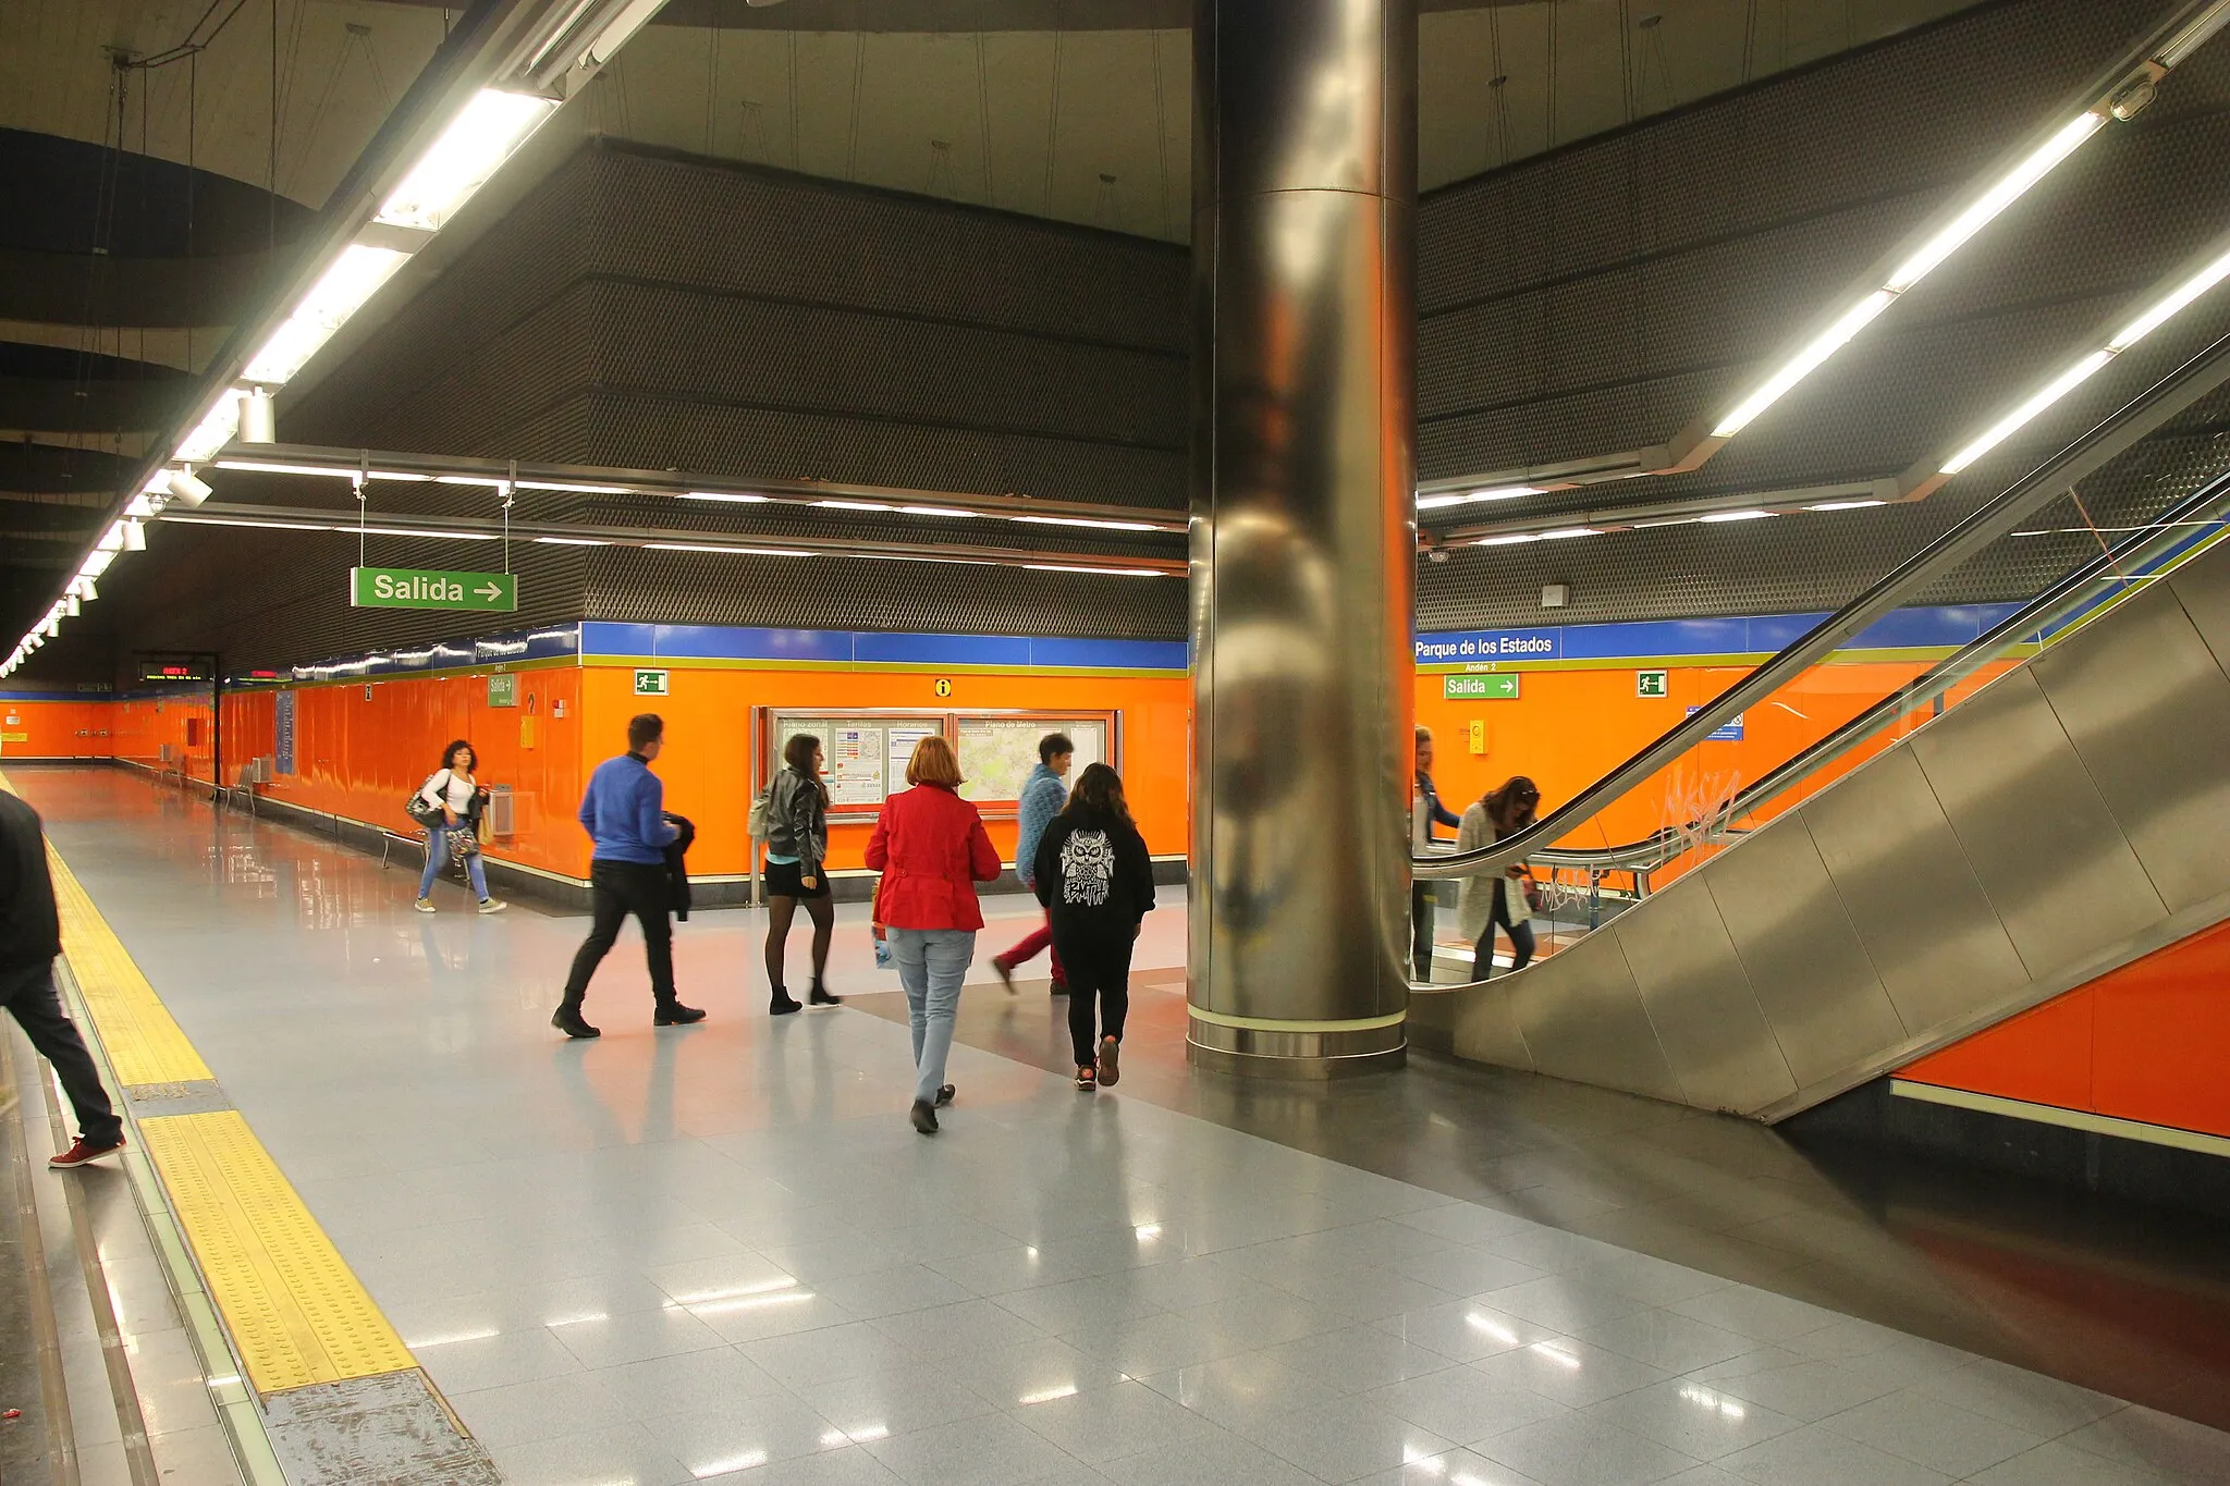
[[2029, 982], [1911, 749], [1797, 811], [1898, 1018], [1927, 1032]]

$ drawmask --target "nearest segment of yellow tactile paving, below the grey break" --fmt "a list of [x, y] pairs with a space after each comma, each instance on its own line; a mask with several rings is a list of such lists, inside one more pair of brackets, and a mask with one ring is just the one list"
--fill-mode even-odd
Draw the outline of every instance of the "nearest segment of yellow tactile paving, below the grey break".
[[239, 1109], [140, 1121], [259, 1392], [415, 1368]]

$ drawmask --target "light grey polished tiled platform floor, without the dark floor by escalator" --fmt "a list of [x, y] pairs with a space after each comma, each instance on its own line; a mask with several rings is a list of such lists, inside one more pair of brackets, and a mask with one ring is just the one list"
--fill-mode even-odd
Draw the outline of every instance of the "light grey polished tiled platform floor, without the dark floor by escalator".
[[2230, 1482], [2185, 1419], [1300, 1150], [1351, 1112], [1311, 1092], [1186, 1081], [1293, 1143], [1171, 1107], [1144, 1018], [1135, 1089], [1077, 1096], [1041, 1003], [972, 991], [1037, 1052], [959, 1047], [923, 1141], [903, 1027], [767, 1020], [752, 916], [682, 929], [707, 1025], [649, 1027], [629, 938], [573, 1045], [580, 920], [415, 916], [127, 775], [16, 782], [513, 1482]]

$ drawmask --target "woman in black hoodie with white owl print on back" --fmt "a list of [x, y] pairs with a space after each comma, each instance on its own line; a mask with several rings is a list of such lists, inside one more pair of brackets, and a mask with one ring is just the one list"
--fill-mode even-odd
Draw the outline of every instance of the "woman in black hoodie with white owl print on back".
[[1068, 971], [1077, 1087], [1113, 1087], [1122, 1078], [1122, 1023], [1131, 1011], [1131, 942], [1153, 909], [1153, 860], [1131, 824], [1122, 775], [1106, 764], [1088, 764], [1077, 775], [1068, 804], [1037, 842], [1035, 869], [1037, 900], [1053, 922], [1053, 951]]

